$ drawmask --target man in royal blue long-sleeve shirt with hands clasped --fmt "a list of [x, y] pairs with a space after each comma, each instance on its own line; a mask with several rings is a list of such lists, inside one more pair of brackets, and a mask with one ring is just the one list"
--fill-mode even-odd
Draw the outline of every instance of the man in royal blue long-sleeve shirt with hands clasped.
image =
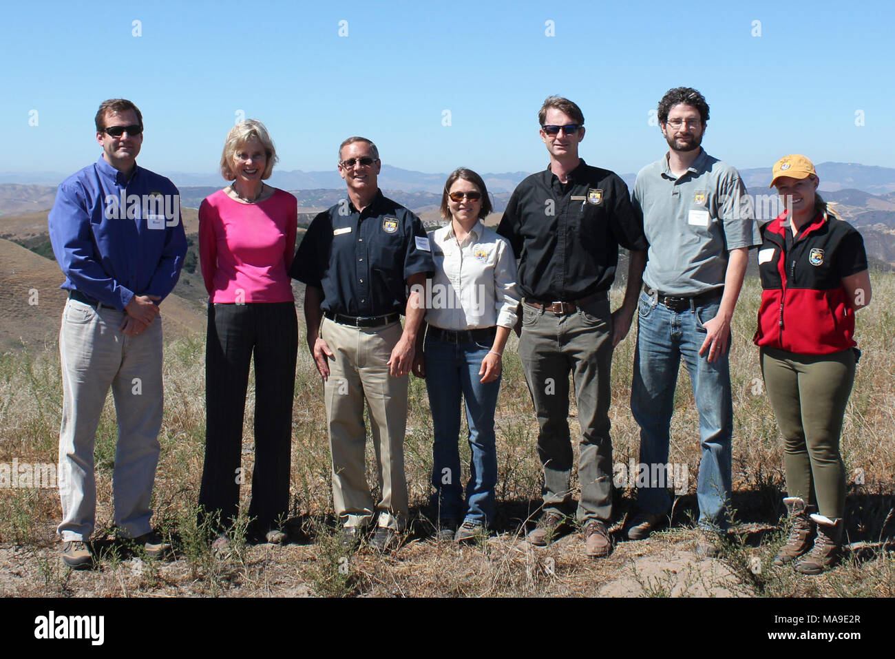
[[137, 167], [140, 110], [107, 100], [96, 116], [102, 156], [59, 185], [50, 240], [69, 291], [59, 333], [63, 418], [59, 490], [63, 561], [90, 567], [96, 515], [93, 443], [109, 387], [115, 397], [115, 525], [158, 557], [149, 498], [162, 422], [162, 327], [158, 304], [177, 283], [186, 236], [177, 188]]

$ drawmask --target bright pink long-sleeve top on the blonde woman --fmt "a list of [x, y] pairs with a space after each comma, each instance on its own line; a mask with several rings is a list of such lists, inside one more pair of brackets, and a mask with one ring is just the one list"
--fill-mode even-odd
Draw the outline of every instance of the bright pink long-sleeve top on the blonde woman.
[[199, 207], [199, 256], [212, 303], [292, 302], [287, 271], [295, 249], [298, 201], [277, 190], [245, 204], [223, 190]]

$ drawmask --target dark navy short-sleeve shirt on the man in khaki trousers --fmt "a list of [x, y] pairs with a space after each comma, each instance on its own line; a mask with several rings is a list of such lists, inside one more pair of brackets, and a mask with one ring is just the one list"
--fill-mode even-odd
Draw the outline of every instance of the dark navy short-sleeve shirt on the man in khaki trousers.
[[379, 316], [404, 313], [406, 279], [432, 270], [420, 218], [377, 191], [360, 213], [345, 199], [314, 218], [289, 276], [323, 289], [324, 312]]

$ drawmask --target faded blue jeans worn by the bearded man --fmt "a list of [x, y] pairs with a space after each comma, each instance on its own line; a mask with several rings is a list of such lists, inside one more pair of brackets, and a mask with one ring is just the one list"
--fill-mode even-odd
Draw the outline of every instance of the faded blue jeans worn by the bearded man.
[[733, 435], [728, 355], [720, 355], [712, 364], [708, 351], [699, 355], [706, 336], [703, 323], [717, 315], [719, 303], [720, 297], [710, 304], [673, 312], [641, 293], [631, 412], [640, 424], [640, 462], [650, 473], [649, 485], [639, 488], [637, 503], [644, 512], [665, 514], [671, 506], [667, 483], [658, 482], [657, 476], [664, 470], [654, 466], [668, 464], [669, 426], [683, 356], [693, 383], [703, 451], [696, 484], [699, 526], [725, 528]]

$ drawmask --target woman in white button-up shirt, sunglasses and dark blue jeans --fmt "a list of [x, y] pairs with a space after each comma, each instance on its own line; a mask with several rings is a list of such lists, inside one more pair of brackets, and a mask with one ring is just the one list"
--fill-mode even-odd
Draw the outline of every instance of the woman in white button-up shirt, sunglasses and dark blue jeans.
[[[447, 177], [441, 215], [450, 222], [429, 234], [435, 273], [427, 281], [424, 348], [417, 351], [413, 369], [426, 378], [432, 411], [432, 508], [438, 516], [438, 537], [457, 542], [482, 535], [494, 518], [494, 410], [503, 350], [519, 304], [513, 249], [482, 224], [490, 211], [480, 175], [461, 167]], [[465, 502], [460, 483], [461, 395], [472, 453]]]

